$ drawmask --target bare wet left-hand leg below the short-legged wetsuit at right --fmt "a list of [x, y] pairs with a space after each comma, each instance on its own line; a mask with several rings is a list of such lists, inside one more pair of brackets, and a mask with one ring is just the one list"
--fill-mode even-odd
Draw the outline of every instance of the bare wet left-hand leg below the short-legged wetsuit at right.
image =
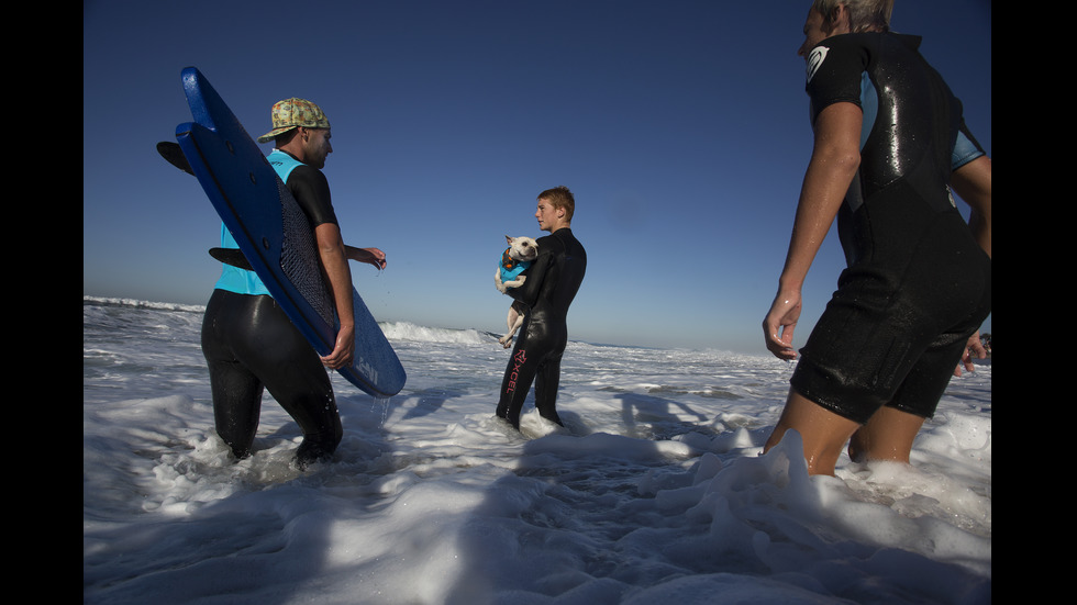
[[832, 475], [845, 442], [859, 426], [858, 423], [815, 404], [796, 391], [789, 391], [786, 407], [781, 411], [778, 425], [774, 427], [770, 438], [763, 447], [763, 452], [766, 453], [778, 445], [787, 430], [796, 429], [804, 441], [808, 473]]

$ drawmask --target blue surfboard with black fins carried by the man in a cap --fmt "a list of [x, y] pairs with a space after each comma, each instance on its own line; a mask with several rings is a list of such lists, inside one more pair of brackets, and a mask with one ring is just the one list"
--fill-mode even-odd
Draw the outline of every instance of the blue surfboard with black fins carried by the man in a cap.
[[[206, 77], [188, 67], [182, 81], [195, 121], [176, 126], [176, 139], [195, 176], [277, 304], [319, 355], [332, 352], [340, 321], [307, 215]], [[337, 371], [370, 395], [395, 395], [403, 366], [354, 289], [352, 301], [355, 360]]]

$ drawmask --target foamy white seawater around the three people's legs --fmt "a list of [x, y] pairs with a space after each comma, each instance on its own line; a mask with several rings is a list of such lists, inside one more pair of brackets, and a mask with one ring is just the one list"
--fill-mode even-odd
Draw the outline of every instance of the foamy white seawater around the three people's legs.
[[990, 365], [951, 381], [912, 467], [809, 478], [796, 434], [759, 456], [791, 363], [573, 343], [567, 429], [529, 402], [520, 434], [493, 335], [385, 324], [408, 384], [333, 373], [344, 440], [300, 472], [268, 394], [230, 459], [201, 320], [84, 298], [84, 603], [990, 602]]

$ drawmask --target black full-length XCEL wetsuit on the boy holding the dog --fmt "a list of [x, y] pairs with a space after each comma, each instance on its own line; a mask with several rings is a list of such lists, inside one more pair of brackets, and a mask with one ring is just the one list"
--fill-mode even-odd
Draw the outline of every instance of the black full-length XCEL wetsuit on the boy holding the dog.
[[507, 294], [529, 306], [520, 336], [501, 382], [498, 416], [520, 428], [520, 411], [535, 385], [535, 407], [542, 417], [562, 424], [557, 415], [560, 358], [568, 344], [568, 307], [587, 270], [587, 251], [560, 228], [541, 237], [538, 257], [528, 269], [528, 280]]

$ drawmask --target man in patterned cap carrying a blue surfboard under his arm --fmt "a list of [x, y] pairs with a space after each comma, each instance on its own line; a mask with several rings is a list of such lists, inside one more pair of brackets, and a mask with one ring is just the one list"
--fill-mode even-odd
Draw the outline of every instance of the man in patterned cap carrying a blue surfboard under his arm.
[[[347, 248], [321, 168], [333, 148], [324, 112], [304, 99], [274, 104], [274, 128], [258, 138], [275, 142], [270, 166], [286, 183], [313, 229], [322, 268], [340, 318], [332, 351], [319, 356], [281, 311], [262, 279], [224, 265], [207, 304], [202, 350], [210, 368], [216, 430], [237, 458], [249, 455], [258, 427], [263, 390], [280, 403], [303, 433], [297, 462], [306, 468], [332, 456], [343, 437], [325, 367], [338, 369], [355, 355], [352, 275], [348, 258], [385, 267], [377, 248]], [[221, 246], [238, 247], [227, 228]]]

